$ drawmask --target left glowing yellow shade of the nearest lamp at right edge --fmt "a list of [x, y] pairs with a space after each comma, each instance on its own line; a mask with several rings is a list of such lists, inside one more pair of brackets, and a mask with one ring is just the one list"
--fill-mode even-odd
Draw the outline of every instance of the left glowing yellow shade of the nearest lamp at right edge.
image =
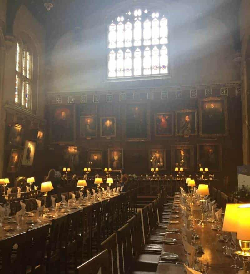
[[239, 203], [227, 203], [222, 231], [237, 232], [238, 206]]

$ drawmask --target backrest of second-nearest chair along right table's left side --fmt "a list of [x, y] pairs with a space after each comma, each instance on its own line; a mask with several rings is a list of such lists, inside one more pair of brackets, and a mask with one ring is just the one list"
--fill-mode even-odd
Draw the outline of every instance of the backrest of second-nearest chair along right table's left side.
[[[117, 240], [116, 234], [113, 233], [101, 243], [101, 249], [108, 250], [109, 253], [109, 263], [112, 266], [113, 274], [118, 274], [118, 261], [117, 261]], [[111, 272], [112, 273], [112, 272]]]

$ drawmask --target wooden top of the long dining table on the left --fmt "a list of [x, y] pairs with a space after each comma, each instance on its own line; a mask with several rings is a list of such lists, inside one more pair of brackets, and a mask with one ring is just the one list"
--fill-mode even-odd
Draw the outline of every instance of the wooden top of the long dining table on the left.
[[[117, 196], [117, 195], [116, 195], [116, 196]], [[109, 199], [112, 199], [112, 197], [114, 197], [114, 196], [105, 197], [105, 199], [103, 199], [103, 200], [109, 200]], [[23, 232], [25, 232], [26, 230], [31, 229], [31, 228], [39, 227], [39, 226], [44, 225], [44, 224], [51, 224], [51, 223], [52, 223], [52, 219], [56, 219], [56, 218], [59, 218], [59, 217], [65, 215], [65, 214], [67, 215], [67, 214], [69, 214], [69, 213], [73, 213], [73, 212], [75, 212], [75, 211], [82, 210], [83, 208], [88, 207], [88, 206], [90, 206], [91, 204], [93, 204], [93, 203], [88, 203], [86, 197], [83, 198], [83, 200], [84, 200], [85, 204], [77, 204], [77, 203], [76, 203], [76, 204], [72, 204], [72, 206], [75, 206], [75, 205], [76, 205], [76, 206], [78, 206], [78, 208], [68, 208], [68, 211], [67, 211], [67, 212], [61, 212], [60, 210], [61, 210], [62, 208], [64, 208], [63, 206], [61, 206], [61, 207], [59, 208], [59, 211], [58, 211], [58, 213], [57, 213], [57, 216], [55, 216], [55, 213], [56, 213], [56, 212], [55, 212], [55, 210], [54, 210], [52, 207], [47, 208], [48, 211], [47, 211], [46, 213], [50, 213], [52, 216], [51, 216], [51, 217], [41, 216], [41, 217], [40, 217], [40, 220], [41, 220], [40, 223], [37, 222], [37, 219], [38, 219], [37, 210], [32, 211], [32, 212], [34, 213], [35, 216], [29, 217], [29, 216], [27, 216], [27, 215], [25, 214], [25, 216], [22, 218], [22, 222], [21, 222], [21, 224], [20, 224], [20, 228], [21, 228], [21, 229], [17, 229], [17, 223], [16, 223], [16, 222], [15, 222], [15, 223], [9, 223], [9, 219], [4, 219], [4, 220], [3, 220], [3, 223], [2, 223], [2, 227], [0, 227], [0, 240], [3, 240], [3, 239], [8, 238], [8, 237], [10, 237], [10, 236], [14, 236], [14, 235], [23, 233]], [[101, 202], [101, 201], [103, 201], [103, 200], [96, 201], [96, 203], [97, 203], [97, 202]], [[93, 199], [92, 199], [92, 198], [91, 198], [90, 202], [93, 202]], [[15, 219], [15, 216], [11, 216], [11, 218], [12, 218], [12, 219]], [[27, 223], [27, 221], [29, 221], [29, 220], [34, 221], [34, 223], [32, 223], [32, 224]], [[6, 226], [9, 226], [9, 225], [11, 225], [13, 229], [10, 230], [10, 231], [6, 231], [4, 228], [5, 228]], [[10, 232], [11, 234], [6, 235], [6, 234], [8, 234], [8, 232]]]

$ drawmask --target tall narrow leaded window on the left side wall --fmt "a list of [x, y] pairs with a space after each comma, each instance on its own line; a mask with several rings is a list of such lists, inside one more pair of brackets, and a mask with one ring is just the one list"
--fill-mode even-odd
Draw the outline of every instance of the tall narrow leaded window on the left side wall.
[[27, 45], [17, 42], [15, 103], [31, 109], [32, 55]]

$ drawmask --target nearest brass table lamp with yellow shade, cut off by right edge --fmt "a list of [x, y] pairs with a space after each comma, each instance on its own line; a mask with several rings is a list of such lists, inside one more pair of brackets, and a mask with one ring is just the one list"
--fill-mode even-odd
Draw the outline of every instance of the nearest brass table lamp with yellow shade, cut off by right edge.
[[247, 261], [250, 257], [250, 204], [241, 204], [237, 210], [237, 239], [242, 251], [236, 251], [237, 255], [243, 256], [243, 274], [247, 271]]

